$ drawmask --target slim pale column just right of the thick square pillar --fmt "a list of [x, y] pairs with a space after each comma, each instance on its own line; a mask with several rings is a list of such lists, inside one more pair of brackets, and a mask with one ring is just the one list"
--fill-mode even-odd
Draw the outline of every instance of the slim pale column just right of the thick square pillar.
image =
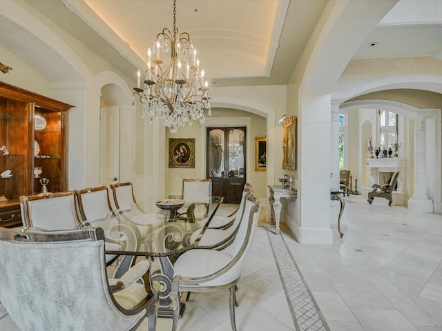
[[332, 101], [332, 129], [330, 134], [330, 187], [339, 188], [339, 105]]

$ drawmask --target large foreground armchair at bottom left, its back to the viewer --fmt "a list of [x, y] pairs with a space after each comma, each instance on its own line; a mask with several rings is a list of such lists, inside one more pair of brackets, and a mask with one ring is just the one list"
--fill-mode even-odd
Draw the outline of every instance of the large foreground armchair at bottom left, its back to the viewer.
[[108, 280], [101, 228], [0, 228], [0, 251], [0, 301], [21, 330], [136, 330], [147, 316], [155, 330], [148, 261]]

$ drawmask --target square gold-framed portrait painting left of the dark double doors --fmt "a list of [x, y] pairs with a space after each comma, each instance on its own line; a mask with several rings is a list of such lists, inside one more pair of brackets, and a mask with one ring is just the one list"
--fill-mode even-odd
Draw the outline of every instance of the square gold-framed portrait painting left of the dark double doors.
[[169, 168], [195, 168], [195, 138], [169, 138]]

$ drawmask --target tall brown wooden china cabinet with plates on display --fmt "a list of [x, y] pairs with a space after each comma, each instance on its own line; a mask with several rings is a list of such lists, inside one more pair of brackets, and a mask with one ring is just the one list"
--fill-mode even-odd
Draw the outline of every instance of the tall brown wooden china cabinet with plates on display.
[[[0, 82], [0, 226], [21, 225], [19, 197], [66, 190], [66, 112], [73, 106]], [[40, 169], [41, 168], [41, 169]]]

